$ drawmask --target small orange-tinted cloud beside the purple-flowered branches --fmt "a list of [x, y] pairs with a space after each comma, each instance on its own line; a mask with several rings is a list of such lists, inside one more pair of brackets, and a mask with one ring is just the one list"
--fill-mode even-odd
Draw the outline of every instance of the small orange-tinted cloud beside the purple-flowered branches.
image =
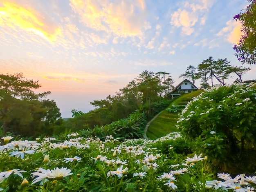
[[226, 22], [226, 27], [223, 27], [216, 36], [222, 36], [225, 40], [237, 44], [242, 36], [241, 27], [240, 22], [229, 20]]

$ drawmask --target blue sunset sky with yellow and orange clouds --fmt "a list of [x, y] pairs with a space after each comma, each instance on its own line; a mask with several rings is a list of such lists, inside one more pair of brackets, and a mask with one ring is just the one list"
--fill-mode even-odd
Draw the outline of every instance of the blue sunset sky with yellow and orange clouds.
[[[23, 73], [51, 91], [63, 118], [94, 109], [143, 71], [177, 86], [212, 56], [241, 66], [233, 47], [247, 0], [0, 0], [0, 74]], [[256, 66], [243, 80], [256, 79]], [[229, 81], [232, 83], [237, 77]], [[195, 82], [200, 87], [200, 80]]]

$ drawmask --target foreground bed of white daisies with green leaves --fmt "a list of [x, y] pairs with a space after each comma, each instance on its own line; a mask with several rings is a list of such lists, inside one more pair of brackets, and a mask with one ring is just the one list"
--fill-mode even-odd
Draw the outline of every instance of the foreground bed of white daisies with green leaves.
[[[78, 133], [37, 141], [7, 141], [0, 148], [0, 190], [231, 192], [237, 181], [243, 191], [246, 186], [255, 186], [239, 182], [253, 181], [255, 176], [251, 179], [239, 174], [231, 178], [223, 173], [218, 174], [219, 179], [227, 178], [218, 181], [216, 187], [207, 156], [189, 154], [189, 145], [177, 132], [156, 141], [119, 142], [112, 136], [101, 141]], [[13, 156], [19, 152], [24, 157]]]

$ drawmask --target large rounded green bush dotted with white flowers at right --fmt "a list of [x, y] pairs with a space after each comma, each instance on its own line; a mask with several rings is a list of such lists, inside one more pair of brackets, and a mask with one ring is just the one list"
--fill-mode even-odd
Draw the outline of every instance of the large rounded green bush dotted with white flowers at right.
[[[185, 138], [195, 141], [193, 150], [209, 156], [216, 167], [234, 171], [236, 162], [239, 169], [243, 153], [254, 154], [255, 98], [255, 83], [207, 89], [182, 111], [179, 129]], [[252, 164], [247, 166], [250, 172]]]

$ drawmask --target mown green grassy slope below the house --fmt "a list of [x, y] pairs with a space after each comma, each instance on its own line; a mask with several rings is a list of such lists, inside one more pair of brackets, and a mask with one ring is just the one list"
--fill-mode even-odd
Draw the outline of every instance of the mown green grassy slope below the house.
[[[186, 105], [193, 97], [198, 96], [202, 90], [198, 90], [189, 94], [184, 94], [173, 101], [167, 108], [172, 108], [172, 105]], [[171, 113], [163, 110], [148, 127], [147, 137], [155, 140], [165, 136], [168, 133], [178, 131], [177, 118], [178, 113]]]

